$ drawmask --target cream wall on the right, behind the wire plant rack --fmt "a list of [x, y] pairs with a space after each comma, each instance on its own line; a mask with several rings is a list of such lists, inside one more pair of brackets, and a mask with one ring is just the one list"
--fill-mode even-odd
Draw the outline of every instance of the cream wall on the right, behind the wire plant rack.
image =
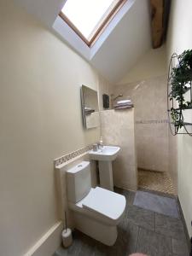
[[[168, 60], [173, 52], [180, 54], [184, 49], [192, 49], [192, 2], [190, 0], [172, 1], [171, 16], [167, 37]], [[192, 122], [192, 113], [190, 113]], [[183, 208], [189, 236], [192, 220], [192, 137], [177, 135], [178, 197]]]

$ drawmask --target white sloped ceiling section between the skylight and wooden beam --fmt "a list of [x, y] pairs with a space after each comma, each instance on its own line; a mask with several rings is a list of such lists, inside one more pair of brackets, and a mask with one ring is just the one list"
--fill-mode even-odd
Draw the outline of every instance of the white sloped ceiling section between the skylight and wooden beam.
[[91, 62], [109, 81], [116, 83], [150, 48], [148, 1], [137, 0]]

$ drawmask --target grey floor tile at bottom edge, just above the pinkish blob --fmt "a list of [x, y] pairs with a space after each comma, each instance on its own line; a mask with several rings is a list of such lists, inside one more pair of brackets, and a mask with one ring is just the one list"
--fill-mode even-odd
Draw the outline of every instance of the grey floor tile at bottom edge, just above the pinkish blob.
[[162, 236], [151, 230], [139, 229], [137, 252], [150, 256], [168, 256], [172, 253], [170, 237]]

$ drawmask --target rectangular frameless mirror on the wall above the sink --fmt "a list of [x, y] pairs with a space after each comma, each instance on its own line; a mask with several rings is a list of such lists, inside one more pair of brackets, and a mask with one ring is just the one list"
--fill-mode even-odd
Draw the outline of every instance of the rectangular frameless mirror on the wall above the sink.
[[81, 87], [81, 103], [84, 127], [86, 129], [98, 127], [99, 122], [99, 106], [96, 90], [82, 85]]

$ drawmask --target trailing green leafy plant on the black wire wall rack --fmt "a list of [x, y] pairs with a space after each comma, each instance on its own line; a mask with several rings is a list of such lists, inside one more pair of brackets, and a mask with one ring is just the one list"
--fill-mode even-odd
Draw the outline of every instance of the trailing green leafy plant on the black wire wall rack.
[[183, 127], [182, 109], [192, 107], [192, 100], [186, 102], [184, 93], [190, 88], [192, 80], [192, 49], [178, 55], [177, 67], [172, 68], [170, 101], [176, 100], [178, 108], [171, 108], [172, 121], [177, 128]]

